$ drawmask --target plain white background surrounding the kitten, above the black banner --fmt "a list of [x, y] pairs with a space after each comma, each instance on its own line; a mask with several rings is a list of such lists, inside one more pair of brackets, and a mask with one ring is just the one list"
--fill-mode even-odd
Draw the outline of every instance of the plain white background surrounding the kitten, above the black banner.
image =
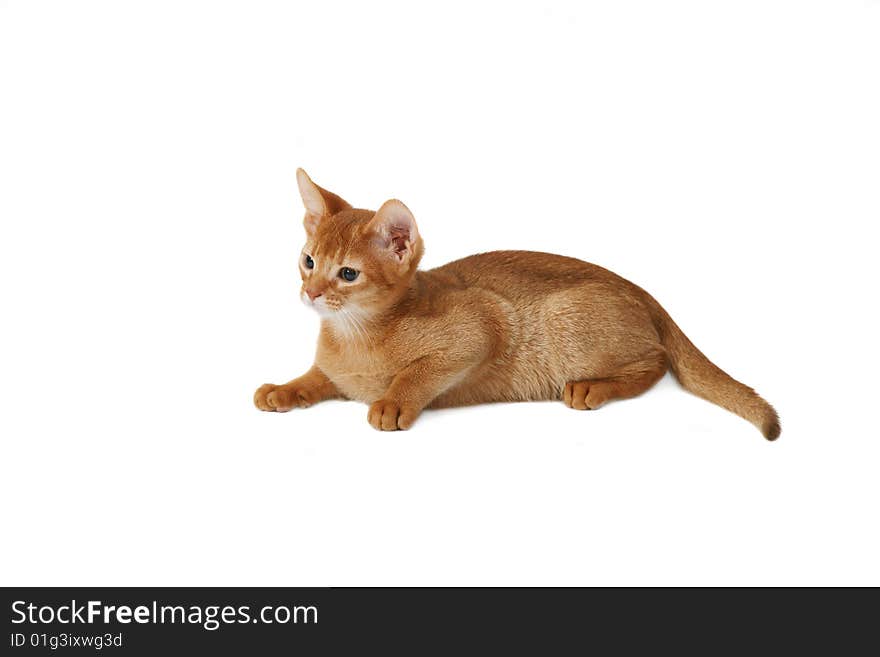
[[[0, 2], [0, 583], [880, 584], [880, 3]], [[609, 267], [779, 410], [251, 398], [294, 171]]]

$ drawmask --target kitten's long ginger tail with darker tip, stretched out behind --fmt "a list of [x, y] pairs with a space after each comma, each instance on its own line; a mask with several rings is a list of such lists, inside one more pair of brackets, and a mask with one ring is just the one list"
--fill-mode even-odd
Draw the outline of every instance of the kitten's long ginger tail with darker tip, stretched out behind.
[[681, 385], [695, 395], [745, 418], [758, 427], [767, 440], [776, 440], [782, 428], [774, 408], [757, 392], [706, 358], [678, 328], [669, 313], [653, 298], [650, 301], [660, 340], [666, 347], [672, 371]]

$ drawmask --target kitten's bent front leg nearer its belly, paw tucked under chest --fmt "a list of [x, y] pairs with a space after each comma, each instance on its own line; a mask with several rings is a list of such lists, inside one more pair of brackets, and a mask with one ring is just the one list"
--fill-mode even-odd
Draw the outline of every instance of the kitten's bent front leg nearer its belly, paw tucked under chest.
[[380, 431], [409, 429], [435, 397], [461, 381], [477, 362], [473, 356], [452, 359], [450, 354], [414, 361], [370, 405], [367, 421]]

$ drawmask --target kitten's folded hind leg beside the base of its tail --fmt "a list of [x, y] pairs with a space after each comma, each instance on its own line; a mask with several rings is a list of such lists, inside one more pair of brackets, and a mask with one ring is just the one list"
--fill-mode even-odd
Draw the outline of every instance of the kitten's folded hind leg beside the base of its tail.
[[589, 410], [612, 399], [635, 397], [657, 383], [667, 366], [666, 352], [656, 347], [604, 376], [566, 383], [562, 399], [569, 408]]

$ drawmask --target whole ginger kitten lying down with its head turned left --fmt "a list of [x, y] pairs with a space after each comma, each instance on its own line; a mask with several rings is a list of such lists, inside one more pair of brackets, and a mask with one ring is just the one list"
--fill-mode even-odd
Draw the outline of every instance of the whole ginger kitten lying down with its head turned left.
[[709, 361], [654, 298], [574, 258], [495, 251], [418, 270], [422, 236], [398, 200], [352, 208], [298, 169], [303, 302], [321, 331], [312, 368], [257, 389], [264, 411], [325, 399], [370, 405], [375, 429], [409, 429], [426, 408], [562, 400], [596, 409], [641, 394], [671, 368], [685, 389], [768, 440], [779, 417]]

